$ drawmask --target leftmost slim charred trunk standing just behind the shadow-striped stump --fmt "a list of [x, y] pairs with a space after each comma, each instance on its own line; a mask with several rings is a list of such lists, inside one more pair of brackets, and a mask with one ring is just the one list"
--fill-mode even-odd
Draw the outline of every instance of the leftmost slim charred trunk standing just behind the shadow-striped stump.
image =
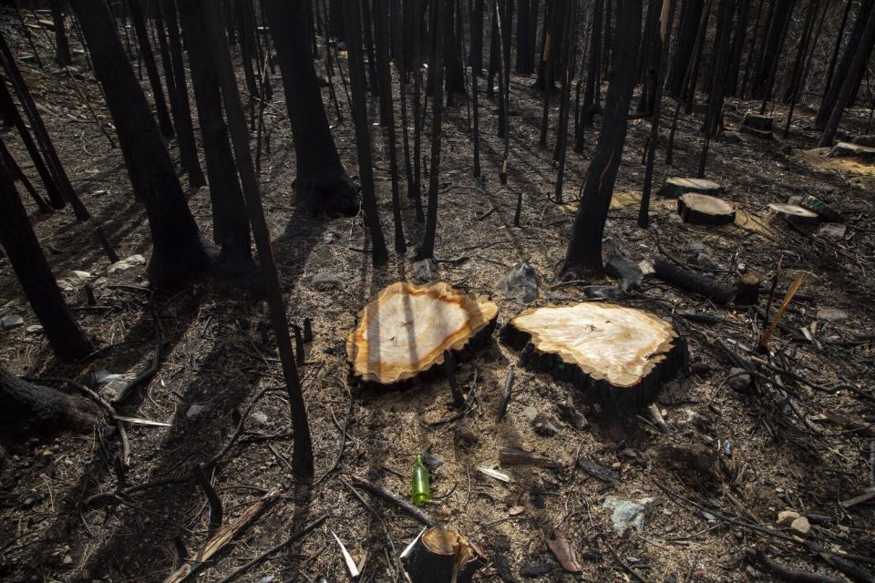
[[355, 142], [358, 152], [358, 173], [362, 182], [362, 210], [371, 234], [372, 260], [375, 265], [388, 261], [386, 240], [380, 227], [379, 210], [376, 207], [374, 168], [371, 159], [371, 137], [367, 129], [367, 97], [365, 95], [365, 57], [362, 50], [362, 18], [358, 0], [344, 1], [347, 46], [349, 48], [349, 86], [353, 92], [352, 108], [355, 125]]

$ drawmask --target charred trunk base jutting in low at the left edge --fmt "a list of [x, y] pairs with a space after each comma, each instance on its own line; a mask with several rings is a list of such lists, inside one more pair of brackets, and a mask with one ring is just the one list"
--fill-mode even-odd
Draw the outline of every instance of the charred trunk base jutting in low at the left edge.
[[95, 423], [77, 400], [39, 384], [28, 383], [0, 364], [0, 427], [4, 433], [88, 431]]

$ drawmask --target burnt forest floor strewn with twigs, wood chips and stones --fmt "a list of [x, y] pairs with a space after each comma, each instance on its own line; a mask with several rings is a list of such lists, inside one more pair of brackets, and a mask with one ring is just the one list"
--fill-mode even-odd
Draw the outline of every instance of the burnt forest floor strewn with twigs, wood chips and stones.
[[[14, 39], [13, 46], [17, 43], [19, 51], [26, 52], [10, 15], [4, 15], [0, 26]], [[36, 33], [43, 60], [49, 63], [50, 48]], [[127, 424], [131, 459], [125, 484], [189, 476], [193, 465], [229, 442], [242, 413], [242, 435], [222, 456], [213, 476], [225, 521], [233, 523], [271, 493], [269, 510], [209, 561], [201, 580], [219, 580], [324, 514], [328, 517], [323, 527], [273, 554], [240, 580], [346, 580], [332, 531], [362, 568], [362, 580], [398, 580], [391, 555], [417, 537], [421, 525], [363, 493], [381, 517], [377, 521], [343, 482], [365, 476], [407, 497], [415, 457], [423, 452], [442, 461], [431, 473], [436, 502], [426, 510], [438, 516], [442, 507], [451, 527], [480, 541], [490, 558], [482, 580], [774, 578], [746, 560], [746, 551], [755, 547], [788, 568], [834, 577], [838, 572], [818, 558], [815, 546], [872, 560], [875, 506], [871, 501], [847, 508], [839, 503], [875, 486], [875, 442], [866, 428], [875, 421], [875, 167], [826, 159], [822, 151], [811, 153], [818, 134], [804, 127], [813, 111], [798, 109], [788, 138], [776, 128], [771, 141], [730, 134], [712, 143], [706, 177], [723, 185], [725, 198], [740, 211], [736, 223], [723, 227], [685, 224], [676, 215], [675, 201], [659, 198], [651, 211], [653, 228], [636, 227], [644, 174], [641, 159], [650, 123], [630, 124], [606, 229], [623, 255], [646, 261], [664, 259], [667, 251], [726, 282], [734, 277], [727, 271], [744, 263], [761, 281], [769, 283], [777, 276], [779, 290], [786, 290], [798, 274], [807, 274], [801, 297], [790, 303], [783, 317], [786, 326], [771, 343], [776, 362], [802, 381], [761, 368], [756, 386], [746, 391], [726, 384], [733, 364], [719, 343], [729, 343], [737, 353], [755, 346], [761, 322], [752, 312], [715, 305], [653, 276], [645, 279], [642, 291], [617, 301], [672, 320], [689, 339], [692, 375], [668, 385], [658, 399], [670, 429], [666, 435], [645, 413], [622, 420], [605, 418], [569, 385], [519, 369], [508, 414], [499, 422], [496, 409], [518, 356], [499, 343], [497, 334], [460, 367], [459, 381], [476, 399], [460, 419], [454, 419], [457, 411], [449, 406], [445, 380], [403, 392], [356, 386], [345, 357], [346, 335], [356, 313], [376, 292], [393, 281], [413, 281], [411, 257], [422, 227], [415, 224], [413, 205], [405, 198], [411, 251], [407, 257], [393, 255], [385, 268], [374, 269], [369, 253], [363, 251], [368, 241], [361, 216], [327, 220], [298, 212], [292, 137], [282, 92], [277, 90], [264, 110], [267, 138], [261, 179], [288, 318], [300, 325], [309, 317], [314, 328], [314, 341], [300, 369], [315, 453], [316, 477], [307, 485], [294, 479], [289, 469], [288, 407], [264, 302], [223, 281], [202, 281], [153, 295], [144, 266], [107, 273], [109, 261], [92, 236], [93, 225], [103, 225], [121, 258], [148, 257], [149, 230], [131, 194], [121, 152], [110, 148], [78, 97], [81, 90], [98, 116], [108, 118], [93, 77], [84, 62], [77, 65], [78, 89], [57, 66], [39, 70], [25, 64], [23, 69], [60, 158], [94, 219], [77, 224], [69, 210], [44, 216], [29, 200], [26, 204], [57, 277], [73, 270], [91, 274], [88, 281], [97, 306], [88, 306], [82, 281], [73, 281], [66, 295], [78, 321], [102, 350], [83, 363], [57, 363], [33, 327], [36, 318], [4, 257], [0, 317], [19, 313], [25, 324], [0, 332], [0, 361], [29, 378], [73, 379], [106, 391], [95, 382], [94, 373], [136, 374], [149, 365], [157, 314], [167, 342], [160, 370], [119, 414], [159, 424]], [[503, 144], [496, 137], [494, 102], [485, 96], [480, 100], [482, 181], [471, 176], [465, 101], [448, 109], [444, 121], [436, 244], [437, 258], [443, 261], [438, 277], [492, 296], [500, 308], [499, 326], [526, 308], [498, 291], [499, 278], [519, 261], [527, 261], [539, 275], [540, 298], [531, 305], [584, 298], [579, 287], [560, 284], [558, 271], [597, 128], [590, 130], [582, 155], [569, 151], [564, 192], [568, 203], [553, 203], [556, 167], [551, 148], [537, 145], [541, 101], [528, 88], [532, 80], [512, 78], [515, 115], [510, 118], [506, 186], [498, 178]], [[281, 87], [280, 78], [274, 76], [273, 84]], [[343, 88], [337, 89], [345, 119], [336, 122], [333, 109], [329, 116], [341, 158], [355, 174], [353, 128]], [[556, 105], [554, 99], [551, 144]], [[376, 101], [370, 106], [373, 121]], [[666, 98], [664, 111], [673, 109], [674, 101]], [[737, 126], [745, 112], [754, 109], [758, 104], [730, 100], [727, 126]], [[850, 110], [843, 128], [862, 133], [868, 114]], [[664, 148], [657, 153], [654, 189], [668, 177], [695, 175], [702, 147], [700, 115], [699, 107], [695, 115], [682, 114], [672, 166], [664, 163]], [[785, 107], [777, 106], [774, 115], [776, 126], [783, 128]], [[663, 140], [667, 125], [663, 124]], [[386, 142], [376, 125], [371, 131], [380, 211], [384, 231], [390, 234]], [[3, 138], [36, 183], [14, 131], [5, 130]], [[427, 141], [423, 152], [427, 153]], [[175, 144], [171, 153], [177, 157]], [[403, 188], [403, 173], [401, 183]], [[522, 220], [515, 228], [520, 192]], [[847, 225], [842, 237], [830, 239], [817, 230], [799, 232], [768, 209], [770, 202], [804, 194], [816, 195], [841, 212]], [[191, 191], [189, 202], [209, 237], [208, 194]], [[780, 298], [778, 294], [776, 302]], [[710, 314], [719, 322], [690, 321], [679, 312]], [[839, 383], [859, 385], [864, 395], [811, 386]], [[561, 414], [566, 406], [580, 410], [590, 424], [576, 429], [566, 423]], [[546, 417], [555, 435], [537, 433], [527, 408]], [[828, 413], [859, 420], [863, 428], [833, 424]], [[203, 547], [209, 506], [191, 480], [86, 504], [89, 496], [113, 493], [117, 487], [112, 463], [117, 437], [100, 427], [93, 435], [35, 437], [10, 451], [0, 482], [0, 580], [160, 581], [180, 566], [180, 547], [189, 553]], [[561, 468], [500, 468], [511, 478], [507, 484], [481, 474], [478, 467], [498, 464], [502, 447], [549, 455]], [[578, 459], [607, 468], [615, 479], [596, 479], [575, 464]], [[620, 537], [606, 500], [643, 498], [652, 498], [646, 504], [643, 529]], [[786, 509], [809, 517], [814, 526], [807, 538], [777, 525], [777, 514]], [[546, 546], [554, 528], [579, 554], [582, 573], [564, 571]], [[867, 568], [875, 570], [871, 564]]]

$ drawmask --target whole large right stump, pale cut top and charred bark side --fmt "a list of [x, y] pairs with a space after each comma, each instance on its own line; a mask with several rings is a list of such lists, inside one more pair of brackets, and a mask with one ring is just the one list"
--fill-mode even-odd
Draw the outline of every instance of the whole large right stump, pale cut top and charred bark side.
[[523, 351], [523, 366], [552, 373], [622, 411], [652, 403], [688, 363], [685, 339], [671, 323], [609, 303], [530, 309], [511, 320], [502, 337]]

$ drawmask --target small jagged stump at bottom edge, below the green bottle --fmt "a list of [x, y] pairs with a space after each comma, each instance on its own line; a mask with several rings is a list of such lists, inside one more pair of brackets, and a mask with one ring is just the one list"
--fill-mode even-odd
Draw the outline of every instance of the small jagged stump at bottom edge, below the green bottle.
[[431, 527], [413, 547], [407, 574], [413, 583], [469, 583], [485, 564], [482, 549], [458, 532]]

